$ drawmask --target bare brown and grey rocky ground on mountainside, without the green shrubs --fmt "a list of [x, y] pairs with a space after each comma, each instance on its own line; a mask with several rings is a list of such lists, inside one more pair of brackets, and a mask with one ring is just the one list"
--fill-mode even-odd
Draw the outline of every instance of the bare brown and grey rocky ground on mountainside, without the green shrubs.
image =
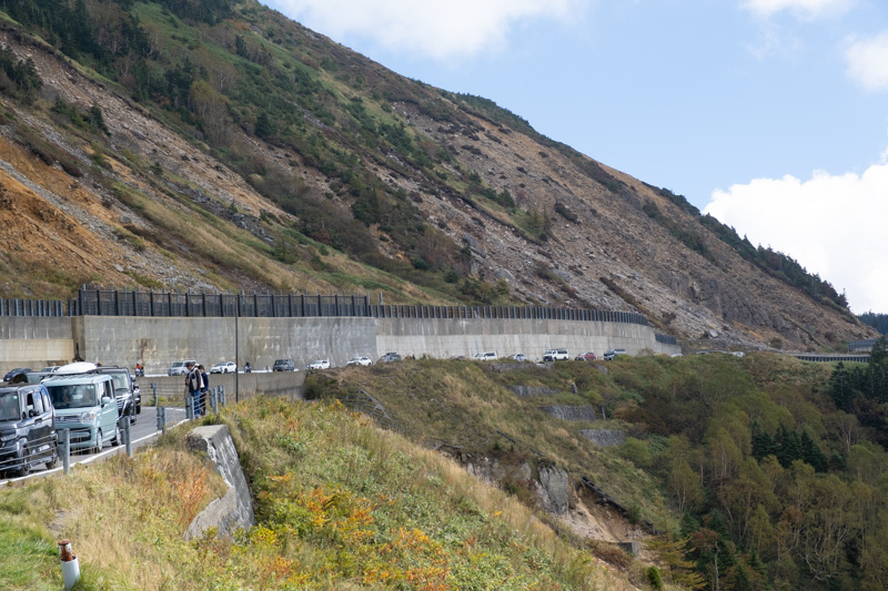
[[[329, 49], [335, 59], [345, 55], [356, 68], [384, 71], [307, 29], [296, 28], [293, 34], [312, 35], [319, 54]], [[0, 225], [6, 228], [0, 247], [16, 253], [28, 244], [36, 259], [64, 268], [72, 277], [97, 277], [119, 286], [134, 286], [138, 279], [165, 288], [331, 289], [322, 277], [309, 277], [272, 257], [251, 269], [240, 264], [223, 268], [206, 254], [212, 248], [168, 236], [158, 213], [145, 213], [145, 204], [183, 220], [200, 211], [216, 218], [214, 233], [248, 233], [265, 245], [299, 220], [254, 188], [260, 179], [240, 175], [209, 147], [202, 149], [200, 137], [186, 137], [183, 130], [165, 125], [119, 89], [88, 78], [44, 45], [28, 44], [9, 30], [0, 30], [0, 37], [17, 55], [33, 60], [44, 84], [43, 100], [97, 105], [109, 128], [108, 146], [100, 154], [108, 166], [99, 179], [90, 172], [95, 154], [89, 142], [78, 143], [51, 119], [0, 96], [20, 122], [16, 125], [27, 125], [81, 170], [74, 177], [71, 165], [65, 170], [34, 159], [17, 140], [16, 125], [0, 126]], [[397, 82], [396, 74], [386, 77]], [[365, 159], [381, 184], [408, 194], [417, 217], [440, 228], [451, 246], [463, 252], [463, 272], [473, 281], [505, 285], [512, 299], [532, 305], [639, 312], [658, 330], [678, 338], [717, 335], [747, 348], [779, 340], [785, 348], [817, 349], [877, 336], [849, 312], [816, 300], [744, 259], [696, 213], [657, 187], [568, 146], [551, 141], [543, 145], [543, 139], [526, 126], [494, 122], [484, 111], [453, 102], [435, 89], [417, 90], [403, 82], [423, 99], [371, 98], [369, 90], [363, 100], [377, 105], [382, 101], [381, 106], [395, 113], [417, 140], [446, 151], [448, 160], [441, 164], [446, 174], [438, 170], [441, 175], [472, 176], [477, 186], [507, 192], [514, 200], [514, 207], [503, 207], [457, 192], [441, 175], [407, 166], [394, 151]], [[444, 110], [446, 116], [436, 119], [423, 101], [435, 103], [432, 111]], [[303, 115], [319, 129], [329, 128], [309, 113]], [[262, 167], [299, 177], [306, 191], [331, 197], [325, 207], [352, 216], [353, 200], [335, 192], [336, 179], [244, 129], [231, 133], [232, 144], [250, 146], [251, 157]], [[154, 172], [128, 164], [140, 160], [152, 163]], [[525, 222], [532, 218], [541, 230], [527, 230]], [[380, 252], [404, 259], [404, 253], [379, 234]], [[683, 242], [683, 235], [693, 235], [697, 247]], [[206, 268], [208, 275], [202, 277], [193, 268]], [[417, 294], [411, 298], [422, 297]]]

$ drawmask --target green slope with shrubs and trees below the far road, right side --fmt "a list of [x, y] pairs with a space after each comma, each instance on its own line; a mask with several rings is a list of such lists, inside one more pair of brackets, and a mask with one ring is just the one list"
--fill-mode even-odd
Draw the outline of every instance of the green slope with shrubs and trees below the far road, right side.
[[[630, 536], [658, 557], [663, 580], [722, 590], [885, 588], [884, 351], [850, 369], [764, 354], [482, 367], [407, 361], [306, 384], [470, 469], [496, 463], [501, 488], [538, 509], [538, 467], [565, 469], [571, 510], [547, 518], [554, 527], [582, 530], [577, 510], [603, 501], [581, 483], [591, 479], [626, 509], [625, 520], [654, 524], [659, 537], [644, 527]], [[555, 394], [517, 397], [508, 389], [516, 385]], [[603, 407], [608, 419], [567, 422], [541, 411], [556, 404]], [[625, 442], [593, 445], [579, 432], [588, 428], [623, 431]], [[518, 471], [507, 467], [521, 463], [536, 467], [532, 478], [512, 476]]]

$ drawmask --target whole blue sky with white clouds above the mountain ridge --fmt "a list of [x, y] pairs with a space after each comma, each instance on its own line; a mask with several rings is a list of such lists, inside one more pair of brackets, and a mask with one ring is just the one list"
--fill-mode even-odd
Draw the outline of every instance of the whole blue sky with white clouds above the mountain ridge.
[[888, 313], [886, 0], [262, 0]]

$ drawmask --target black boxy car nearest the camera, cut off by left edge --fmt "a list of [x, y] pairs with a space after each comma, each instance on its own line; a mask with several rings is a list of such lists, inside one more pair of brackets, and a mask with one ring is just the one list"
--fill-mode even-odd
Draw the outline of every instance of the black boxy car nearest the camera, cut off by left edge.
[[59, 461], [56, 411], [40, 384], [0, 388], [0, 472], [28, 476], [34, 466]]

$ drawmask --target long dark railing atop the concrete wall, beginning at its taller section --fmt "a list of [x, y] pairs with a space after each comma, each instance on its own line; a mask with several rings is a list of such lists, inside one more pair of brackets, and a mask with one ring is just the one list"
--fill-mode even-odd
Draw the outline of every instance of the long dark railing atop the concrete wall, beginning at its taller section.
[[[372, 318], [514, 318], [627, 323], [647, 326], [633, 312], [545, 306], [389, 306], [371, 304], [369, 295], [304, 294], [192, 294], [129, 292], [87, 287], [68, 303], [71, 316], [154, 317], [306, 317], [352, 316]], [[664, 338], [672, 339], [674, 337]], [[659, 340], [659, 336], [658, 336]], [[666, 343], [666, 342], [663, 342]]]

